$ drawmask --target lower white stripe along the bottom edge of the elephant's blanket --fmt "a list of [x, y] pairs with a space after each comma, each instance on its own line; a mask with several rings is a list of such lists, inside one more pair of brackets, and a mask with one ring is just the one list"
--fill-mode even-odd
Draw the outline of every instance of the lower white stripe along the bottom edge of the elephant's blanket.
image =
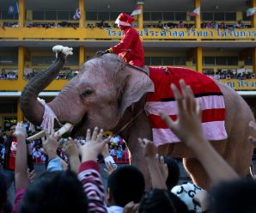
[[[210, 141], [219, 141], [227, 139], [228, 135], [225, 130], [225, 121], [212, 121], [203, 123], [204, 137]], [[174, 135], [169, 129], [152, 129], [153, 142], [155, 146], [165, 143], [179, 143], [180, 138]]]

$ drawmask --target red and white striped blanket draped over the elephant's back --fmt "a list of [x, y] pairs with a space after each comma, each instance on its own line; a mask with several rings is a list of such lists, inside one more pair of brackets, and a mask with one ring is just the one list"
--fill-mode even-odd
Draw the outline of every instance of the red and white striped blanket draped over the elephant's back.
[[177, 119], [178, 109], [170, 84], [172, 82], [180, 88], [180, 79], [184, 79], [186, 84], [191, 86], [193, 94], [199, 100], [202, 109], [204, 136], [208, 140], [223, 140], [228, 137], [225, 130], [223, 95], [210, 77], [182, 67], [149, 67], [149, 73], [150, 79], [155, 85], [155, 93], [147, 94], [145, 110], [148, 114], [149, 124], [153, 131], [153, 142], [156, 146], [180, 142], [180, 139], [172, 131], [169, 131], [158, 113], [161, 110], [172, 119]]

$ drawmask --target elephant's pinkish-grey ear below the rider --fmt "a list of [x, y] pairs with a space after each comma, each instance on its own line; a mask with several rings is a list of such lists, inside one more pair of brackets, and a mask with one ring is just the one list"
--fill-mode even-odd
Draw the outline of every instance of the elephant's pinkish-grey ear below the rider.
[[140, 100], [144, 94], [155, 91], [154, 83], [142, 70], [138, 70], [129, 65], [126, 66], [124, 71], [128, 73], [128, 75], [125, 79], [125, 86], [121, 97], [121, 115], [125, 113], [127, 107], [130, 107], [132, 103]]

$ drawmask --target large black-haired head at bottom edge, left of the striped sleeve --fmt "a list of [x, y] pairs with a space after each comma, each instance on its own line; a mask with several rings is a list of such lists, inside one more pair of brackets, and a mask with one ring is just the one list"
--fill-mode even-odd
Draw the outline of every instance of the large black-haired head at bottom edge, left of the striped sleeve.
[[88, 212], [88, 199], [75, 173], [46, 172], [27, 187], [19, 212]]

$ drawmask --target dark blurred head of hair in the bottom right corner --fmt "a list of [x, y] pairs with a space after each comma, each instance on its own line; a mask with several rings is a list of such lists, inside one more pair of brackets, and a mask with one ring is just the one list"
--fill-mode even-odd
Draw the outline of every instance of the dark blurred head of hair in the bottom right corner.
[[210, 189], [210, 213], [256, 212], [256, 181], [225, 181]]

